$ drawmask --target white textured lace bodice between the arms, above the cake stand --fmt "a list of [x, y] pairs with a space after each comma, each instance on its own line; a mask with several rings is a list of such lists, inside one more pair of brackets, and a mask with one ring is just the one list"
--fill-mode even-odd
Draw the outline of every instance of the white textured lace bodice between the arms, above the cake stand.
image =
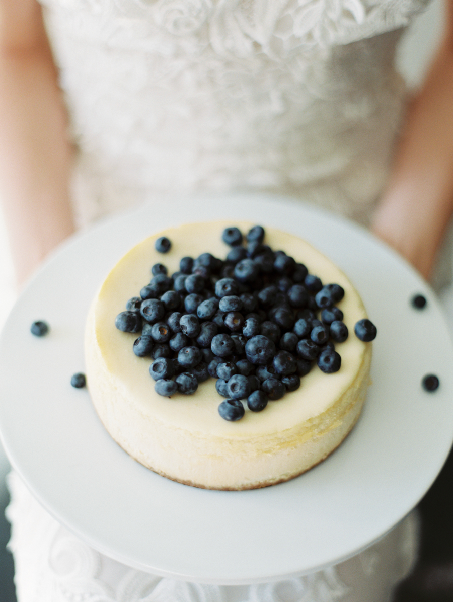
[[82, 222], [197, 191], [279, 191], [366, 222], [424, 0], [44, 0]]

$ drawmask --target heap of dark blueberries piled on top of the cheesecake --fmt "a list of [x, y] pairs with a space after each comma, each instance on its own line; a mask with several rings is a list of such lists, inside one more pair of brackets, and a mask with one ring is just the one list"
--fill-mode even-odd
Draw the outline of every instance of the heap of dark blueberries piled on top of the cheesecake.
[[[153, 359], [156, 393], [189, 395], [211, 376], [226, 398], [219, 414], [239, 420], [241, 400], [261, 411], [268, 400], [295, 391], [314, 362], [327, 374], [340, 369], [334, 344], [347, 339], [348, 328], [336, 303], [344, 289], [322, 284], [264, 237], [261, 226], [245, 241], [238, 228], [226, 228], [222, 238], [231, 250], [225, 260], [211, 253], [183, 257], [171, 276], [165, 265], [153, 265], [151, 282], [117, 315], [119, 330], [141, 332], [133, 349]], [[165, 237], [156, 241], [159, 252], [170, 246]], [[366, 319], [354, 330], [362, 341], [376, 336]]]

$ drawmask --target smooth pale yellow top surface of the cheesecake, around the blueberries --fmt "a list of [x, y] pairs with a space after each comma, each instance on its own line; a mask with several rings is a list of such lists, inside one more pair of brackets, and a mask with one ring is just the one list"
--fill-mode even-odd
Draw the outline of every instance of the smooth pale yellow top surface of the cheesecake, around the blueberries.
[[[313, 365], [310, 373], [302, 377], [297, 391], [268, 403], [262, 412], [246, 409], [244, 418], [236, 422], [223, 420], [218, 414], [218, 405], [223, 398], [215, 389], [214, 378], [201, 383], [193, 395], [177, 393], [168, 398], [155, 393], [155, 382], [149, 374], [152, 359], [135, 356], [132, 345], [139, 335], [118, 330], [115, 327], [117, 314], [125, 310], [128, 299], [139, 296], [141, 288], [149, 283], [153, 264], [163, 263], [171, 275], [179, 270], [183, 256], [196, 258], [209, 252], [224, 259], [230, 247], [221, 240], [223, 229], [237, 226], [245, 234], [253, 225], [237, 221], [194, 223], [159, 232], [123, 256], [94, 299], [91, 311], [96, 343], [102, 356], [102, 370], [109, 375], [111, 385], [119, 389], [122, 397], [130, 400], [144, 417], [152, 417], [155, 423], [189, 430], [200, 436], [209, 433], [221, 438], [258, 438], [270, 432], [282, 432], [303, 421], [307, 421], [308, 425], [310, 419], [327, 411], [351, 386], [360, 371], [369, 343], [363, 343], [354, 335], [354, 324], [366, 317], [359, 294], [347, 276], [310, 244], [265, 226], [265, 244], [273, 250], [282, 249], [295, 261], [305, 264], [310, 273], [321, 278], [323, 284], [335, 282], [344, 288], [344, 299], [337, 306], [344, 312], [344, 322], [350, 335], [344, 343], [335, 346], [342, 358], [341, 369], [333, 374], [324, 374], [316, 364]], [[172, 243], [170, 251], [165, 254], [155, 250], [155, 241], [161, 236], [169, 238]]]

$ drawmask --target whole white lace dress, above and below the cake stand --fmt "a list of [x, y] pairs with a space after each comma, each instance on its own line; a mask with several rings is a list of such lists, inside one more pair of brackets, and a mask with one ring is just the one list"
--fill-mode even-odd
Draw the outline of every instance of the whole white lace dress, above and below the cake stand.
[[[404, 111], [395, 48], [422, 0], [45, 0], [78, 146], [80, 225], [197, 191], [287, 193], [367, 223]], [[10, 476], [19, 602], [383, 602], [413, 517], [309, 577], [161, 579], [61, 527]], [[114, 526], [112, 526], [114, 528]]]

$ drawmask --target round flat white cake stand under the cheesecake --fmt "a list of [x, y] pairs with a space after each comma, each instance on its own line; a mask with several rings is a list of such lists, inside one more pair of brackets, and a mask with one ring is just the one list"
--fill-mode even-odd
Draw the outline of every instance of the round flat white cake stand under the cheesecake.
[[[112, 441], [87, 390], [70, 386], [84, 370], [88, 306], [112, 265], [159, 229], [214, 219], [306, 238], [350, 276], [378, 326], [373, 385], [351, 435], [308, 473], [254, 491], [206, 491], [152, 473]], [[410, 304], [415, 293], [428, 300], [422, 311]], [[51, 325], [47, 337], [30, 334], [37, 319]], [[204, 197], [106, 220], [46, 263], [2, 333], [0, 429], [35, 497], [102, 553], [176, 579], [262, 582], [347, 559], [420, 500], [453, 438], [452, 365], [433, 292], [368, 232], [281, 197]], [[427, 373], [440, 378], [435, 393], [422, 389]]]

